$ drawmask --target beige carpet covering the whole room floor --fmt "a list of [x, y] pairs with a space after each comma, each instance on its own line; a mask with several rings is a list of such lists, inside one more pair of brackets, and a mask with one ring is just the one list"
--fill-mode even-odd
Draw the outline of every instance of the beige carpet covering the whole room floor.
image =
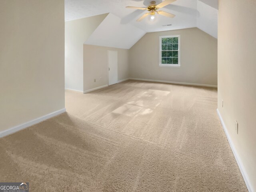
[[217, 90], [126, 81], [66, 91], [67, 113], [0, 139], [0, 182], [31, 192], [247, 191]]

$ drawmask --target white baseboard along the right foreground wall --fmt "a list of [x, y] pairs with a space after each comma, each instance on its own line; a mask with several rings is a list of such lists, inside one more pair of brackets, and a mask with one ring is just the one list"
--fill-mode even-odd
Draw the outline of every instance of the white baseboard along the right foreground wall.
[[248, 174], [246, 173], [246, 170], [245, 170], [244, 165], [242, 163], [242, 160], [241, 160], [240, 156], [238, 155], [238, 153], [236, 151], [236, 148], [235, 148], [235, 146], [234, 146], [234, 144], [233, 144], [233, 142], [232, 142], [232, 140], [231, 140], [231, 138], [230, 138], [230, 136], [228, 134], [228, 130], [226, 128], [226, 125], [224, 124], [224, 121], [223, 121], [223, 119], [222, 119], [222, 117], [220, 115], [220, 111], [218, 109], [217, 109], [217, 114], [218, 114], [218, 116], [220, 118], [220, 122], [221, 122], [222, 127], [224, 129], [224, 132], [225, 132], [225, 134], [226, 134], [226, 136], [228, 138], [228, 142], [229, 142], [230, 147], [232, 149], [232, 152], [233, 152], [233, 154], [234, 154], [234, 156], [236, 158], [236, 162], [238, 164], [240, 172], [242, 173], [242, 176], [244, 178], [244, 182], [245, 182], [245, 184], [247, 186], [247, 189], [248, 189], [249, 192], [254, 192], [253, 188], [252, 188], [252, 184], [250, 184], [250, 180], [249, 180]]

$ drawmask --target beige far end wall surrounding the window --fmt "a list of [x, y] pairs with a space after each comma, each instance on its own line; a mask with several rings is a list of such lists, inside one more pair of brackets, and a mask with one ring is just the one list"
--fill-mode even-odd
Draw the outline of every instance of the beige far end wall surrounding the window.
[[[165, 35], [180, 35], [180, 68], [159, 67]], [[131, 78], [217, 85], [217, 39], [198, 28], [147, 33], [130, 49], [130, 68]]]

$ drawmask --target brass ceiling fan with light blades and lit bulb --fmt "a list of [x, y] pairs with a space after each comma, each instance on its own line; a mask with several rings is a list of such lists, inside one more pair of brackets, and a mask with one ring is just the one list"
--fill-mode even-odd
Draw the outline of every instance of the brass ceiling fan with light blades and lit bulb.
[[137, 21], [141, 21], [142, 19], [146, 18], [146, 16], [150, 15], [150, 20], [154, 20], [155, 18], [155, 14], [158, 13], [162, 16], [166, 16], [166, 17], [170, 17], [170, 18], [174, 18], [175, 15], [174, 14], [171, 14], [171, 13], [167, 13], [167, 12], [164, 12], [164, 11], [157, 11], [158, 9], [168, 5], [168, 4], [171, 4], [172, 2], [174, 2], [176, 0], [165, 0], [164, 2], [156, 5], [156, 2], [155, 1], [152, 1], [150, 2], [150, 5], [146, 8], [144, 7], [132, 7], [132, 6], [127, 6], [126, 8], [132, 8], [132, 9], [140, 9], [140, 10], [147, 10], [149, 11], [149, 13], [146, 13], [144, 14], [141, 18], [139, 18]]

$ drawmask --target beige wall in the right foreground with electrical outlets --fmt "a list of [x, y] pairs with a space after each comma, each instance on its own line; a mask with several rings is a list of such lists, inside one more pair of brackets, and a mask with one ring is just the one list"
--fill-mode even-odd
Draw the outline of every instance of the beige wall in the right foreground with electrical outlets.
[[218, 110], [253, 191], [256, 191], [255, 18], [255, 0], [219, 0]]

